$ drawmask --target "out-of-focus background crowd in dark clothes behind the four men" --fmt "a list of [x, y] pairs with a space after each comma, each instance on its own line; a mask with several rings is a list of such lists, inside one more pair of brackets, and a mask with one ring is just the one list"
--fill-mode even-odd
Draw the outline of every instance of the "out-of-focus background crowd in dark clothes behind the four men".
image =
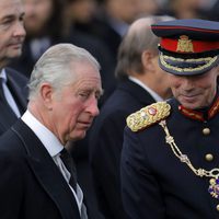
[[[118, 47], [134, 21], [148, 15], [219, 21], [219, 0], [23, 0], [23, 2], [26, 37], [22, 56], [12, 61], [11, 67], [28, 78], [36, 60], [50, 46], [72, 43], [83, 47], [101, 65], [104, 94], [99, 103], [100, 108], [119, 80], [115, 77]], [[120, 56], [123, 57], [123, 54]], [[97, 200], [89, 164], [89, 148], [92, 145], [92, 138], [89, 137], [90, 132], [85, 139], [70, 142], [69, 148], [76, 160], [79, 184], [93, 211], [92, 218], [102, 219], [104, 217], [97, 212]]]

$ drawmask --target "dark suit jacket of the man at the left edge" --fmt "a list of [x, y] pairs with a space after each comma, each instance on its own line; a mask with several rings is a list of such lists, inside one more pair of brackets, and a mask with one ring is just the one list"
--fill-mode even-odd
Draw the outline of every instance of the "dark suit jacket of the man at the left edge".
[[[5, 68], [8, 77], [8, 87], [11, 91], [21, 115], [26, 110], [27, 104], [27, 79], [20, 72]], [[8, 130], [16, 120], [18, 117], [10, 106], [0, 100], [0, 135]]]

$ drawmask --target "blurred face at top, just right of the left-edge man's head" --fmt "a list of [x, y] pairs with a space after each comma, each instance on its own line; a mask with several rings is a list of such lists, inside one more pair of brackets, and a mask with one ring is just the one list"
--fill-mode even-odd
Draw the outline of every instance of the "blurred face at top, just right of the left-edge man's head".
[[25, 28], [28, 35], [42, 32], [53, 13], [53, 0], [23, 0]]

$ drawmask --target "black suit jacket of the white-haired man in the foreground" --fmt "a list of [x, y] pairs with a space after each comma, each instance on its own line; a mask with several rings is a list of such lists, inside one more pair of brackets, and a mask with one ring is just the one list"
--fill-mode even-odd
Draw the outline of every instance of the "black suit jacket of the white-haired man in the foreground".
[[0, 218], [79, 219], [67, 182], [20, 119], [0, 138]]

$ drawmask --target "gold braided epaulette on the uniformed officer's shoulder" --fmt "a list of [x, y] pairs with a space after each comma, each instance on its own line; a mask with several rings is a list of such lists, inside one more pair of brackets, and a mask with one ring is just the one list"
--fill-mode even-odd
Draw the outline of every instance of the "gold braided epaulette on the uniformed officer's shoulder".
[[132, 131], [139, 131], [166, 118], [170, 112], [170, 104], [166, 102], [158, 102], [130, 114], [126, 118], [126, 123]]

